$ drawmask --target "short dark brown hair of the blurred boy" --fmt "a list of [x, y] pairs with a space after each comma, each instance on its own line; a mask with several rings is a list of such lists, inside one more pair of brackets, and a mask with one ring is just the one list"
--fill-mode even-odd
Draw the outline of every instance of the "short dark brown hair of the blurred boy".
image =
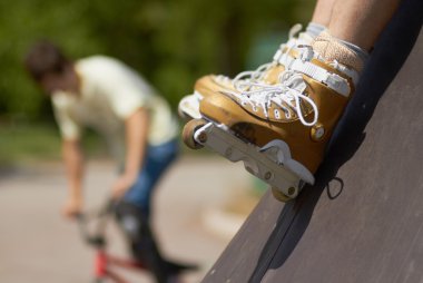
[[35, 43], [24, 58], [24, 66], [36, 80], [47, 74], [62, 74], [70, 61], [59, 47], [48, 40]]

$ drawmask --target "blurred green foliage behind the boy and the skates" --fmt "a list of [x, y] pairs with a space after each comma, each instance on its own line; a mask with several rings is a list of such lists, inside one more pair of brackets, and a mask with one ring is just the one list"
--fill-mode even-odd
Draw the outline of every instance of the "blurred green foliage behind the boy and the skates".
[[[22, 59], [38, 39], [70, 58], [104, 53], [146, 77], [175, 107], [205, 74], [268, 61], [312, 0], [0, 0], [0, 123], [52, 120]], [[267, 42], [264, 61], [249, 57]], [[263, 53], [263, 52], [262, 52]]]

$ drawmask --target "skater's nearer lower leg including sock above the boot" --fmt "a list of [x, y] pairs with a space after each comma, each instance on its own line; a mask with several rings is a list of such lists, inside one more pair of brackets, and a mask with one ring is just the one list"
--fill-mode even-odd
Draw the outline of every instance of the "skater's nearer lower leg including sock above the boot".
[[361, 72], [401, 0], [336, 0], [327, 33], [322, 33], [313, 49], [327, 61], [341, 62]]

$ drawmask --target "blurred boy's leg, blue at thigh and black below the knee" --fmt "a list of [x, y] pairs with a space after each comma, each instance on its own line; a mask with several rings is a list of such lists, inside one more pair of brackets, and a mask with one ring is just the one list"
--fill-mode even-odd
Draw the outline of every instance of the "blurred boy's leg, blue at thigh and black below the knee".
[[155, 240], [149, 222], [150, 198], [157, 182], [176, 155], [175, 140], [149, 147], [137, 183], [116, 207], [118, 223], [128, 238], [134, 257], [142, 263], [159, 283], [168, 282], [178, 271], [163, 257]]

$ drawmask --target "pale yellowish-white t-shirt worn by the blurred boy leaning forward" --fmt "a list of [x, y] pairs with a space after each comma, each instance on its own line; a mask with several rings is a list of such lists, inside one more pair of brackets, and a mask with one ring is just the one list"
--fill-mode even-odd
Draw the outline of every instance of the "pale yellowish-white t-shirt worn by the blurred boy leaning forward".
[[102, 134], [116, 155], [125, 149], [125, 120], [138, 108], [150, 114], [148, 143], [160, 145], [177, 136], [170, 107], [138, 74], [120, 61], [92, 56], [75, 62], [78, 95], [56, 91], [52, 105], [65, 139], [78, 139], [83, 126]]

